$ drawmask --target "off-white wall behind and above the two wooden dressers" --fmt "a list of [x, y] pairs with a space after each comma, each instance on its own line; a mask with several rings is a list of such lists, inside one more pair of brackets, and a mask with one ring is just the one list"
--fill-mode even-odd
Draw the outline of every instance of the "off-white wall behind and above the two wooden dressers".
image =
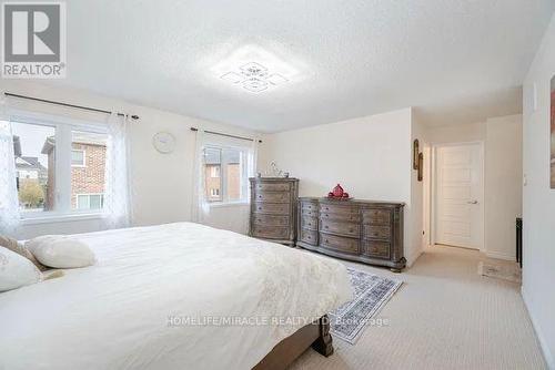
[[272, 161], [299, 177], [300, 196], [325, 196], [337, 183], [360, 199], [405, 202], [405, 257], [412, 237], [412, 110], [266, 135], [259, 171]]

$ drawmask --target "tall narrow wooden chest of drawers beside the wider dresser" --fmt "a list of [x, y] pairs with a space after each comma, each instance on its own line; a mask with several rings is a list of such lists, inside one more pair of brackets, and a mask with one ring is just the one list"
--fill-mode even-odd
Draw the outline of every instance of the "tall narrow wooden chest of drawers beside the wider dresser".
[[297, 178], [252, 177], [249, 236], [295, 245]]

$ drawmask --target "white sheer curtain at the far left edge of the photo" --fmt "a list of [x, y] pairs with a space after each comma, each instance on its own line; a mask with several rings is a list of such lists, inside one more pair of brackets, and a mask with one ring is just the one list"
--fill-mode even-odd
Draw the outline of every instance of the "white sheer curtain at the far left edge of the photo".
[[0, 101], [0, 233], [2, 234], [13, 235], [21, 219], [16, 177], [13, 136], [6, 99], [2, 97]]

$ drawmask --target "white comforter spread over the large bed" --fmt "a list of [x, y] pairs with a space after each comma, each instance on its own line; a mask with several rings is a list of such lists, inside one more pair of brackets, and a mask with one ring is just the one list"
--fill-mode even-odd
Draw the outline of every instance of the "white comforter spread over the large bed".
[[75, 237], [97, 265], [0, 294], [0, 369], [250, 369], [351, 299], [342, 264], [206, 226]]

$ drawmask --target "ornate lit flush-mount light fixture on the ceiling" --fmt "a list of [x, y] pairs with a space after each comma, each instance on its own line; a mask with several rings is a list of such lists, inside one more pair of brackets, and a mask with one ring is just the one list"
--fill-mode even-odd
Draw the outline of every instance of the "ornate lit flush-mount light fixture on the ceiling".
[[285, 76], [272, 73], [268, 68], [256, 62], [243, 64], [236, 72], [226, 72], [220, 79], [238, 84], [253, 93], [263, 92], [289, 81]]

